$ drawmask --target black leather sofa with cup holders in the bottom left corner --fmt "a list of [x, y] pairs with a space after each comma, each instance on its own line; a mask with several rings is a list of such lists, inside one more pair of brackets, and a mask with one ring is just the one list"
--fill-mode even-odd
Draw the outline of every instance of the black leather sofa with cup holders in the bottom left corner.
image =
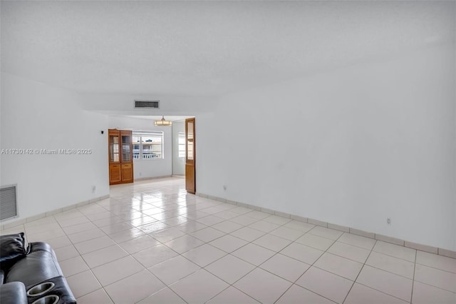
[[25, 244], [24, 233], [0, 235], [0, 303], [76, 304], [51, 246]]

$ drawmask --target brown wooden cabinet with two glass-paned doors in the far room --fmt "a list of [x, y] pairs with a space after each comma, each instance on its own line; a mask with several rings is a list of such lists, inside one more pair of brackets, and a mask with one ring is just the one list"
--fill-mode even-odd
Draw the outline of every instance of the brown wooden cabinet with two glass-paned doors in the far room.
[[109, 184], [133, 183], [133, 145], [131, 131], [112, 130], [109, 136]]

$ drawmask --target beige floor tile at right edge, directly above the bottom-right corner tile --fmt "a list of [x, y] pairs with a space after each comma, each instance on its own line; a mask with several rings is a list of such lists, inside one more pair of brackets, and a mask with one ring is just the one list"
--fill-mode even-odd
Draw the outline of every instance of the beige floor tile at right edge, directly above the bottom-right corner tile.
[[456, 273], [416, 264], [415, 280], [456, 293]]

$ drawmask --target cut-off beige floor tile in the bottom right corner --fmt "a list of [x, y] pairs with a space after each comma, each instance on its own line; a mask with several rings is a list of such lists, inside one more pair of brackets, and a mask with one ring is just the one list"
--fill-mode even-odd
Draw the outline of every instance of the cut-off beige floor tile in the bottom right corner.
[[413, 304], [455, 304], [456, 293], [415, 281], [413, 283]]

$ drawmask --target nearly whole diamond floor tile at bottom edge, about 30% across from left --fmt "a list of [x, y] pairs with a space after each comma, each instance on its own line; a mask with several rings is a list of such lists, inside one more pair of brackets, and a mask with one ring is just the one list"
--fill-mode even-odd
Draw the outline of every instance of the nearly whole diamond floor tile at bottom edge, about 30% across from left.
[[142, 270], [106, 286], [105, 290], [114, 303], [136, 303], [162, 288], [165, 288], [165, 284], [148, 270]]

